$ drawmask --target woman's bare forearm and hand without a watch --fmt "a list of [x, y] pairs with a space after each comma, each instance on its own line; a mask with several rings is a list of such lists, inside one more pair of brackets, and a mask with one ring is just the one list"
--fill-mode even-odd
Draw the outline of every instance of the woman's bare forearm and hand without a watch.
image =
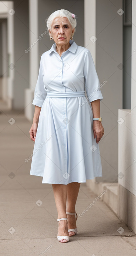
[[34, 111], [34, 116], [33, 116], [33, 123], [30, 128], [30, 138], [32, 141], [35, 141], [36, 133], [37, 133], [37, 127], [38, 127], [38, 122], [39, 122], [39, 115], [40, 115], [41, 107], [38, 107], [35, 105], [35, 111]]

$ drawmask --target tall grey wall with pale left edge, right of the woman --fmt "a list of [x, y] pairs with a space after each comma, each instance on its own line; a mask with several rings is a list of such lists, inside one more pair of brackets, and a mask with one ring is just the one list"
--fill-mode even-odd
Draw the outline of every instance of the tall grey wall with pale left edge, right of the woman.
[[[122, 108], [122, 16], [117, 11], [122, 8], [122, 0], [85, 0], [85, 40], [92, 53], [99, 82], [102, 84], [103, 100], [100, 115], [104, 136], [99, 141], [103, 177], [95, 181], [118, 181], [118, 109]], [[92, 43], [90, 38], [97, 38]], [[106, 82], [104, 82], [106, 81]], [[88, 181], [91, 184], [91, 181]], [[91, 186], [91, 185], [90, 185]]]

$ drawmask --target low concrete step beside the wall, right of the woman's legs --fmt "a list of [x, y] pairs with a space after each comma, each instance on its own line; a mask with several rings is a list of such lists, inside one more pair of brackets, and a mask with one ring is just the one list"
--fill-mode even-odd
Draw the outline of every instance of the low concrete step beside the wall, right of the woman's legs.
[[117, 214], [118, 208], [118, 183], [103, 183], [87, 180], [87, 187], [99, 196], [105, 189], [107, 192], [101, 197], [101, 200], [107, 204], [114, 213]]

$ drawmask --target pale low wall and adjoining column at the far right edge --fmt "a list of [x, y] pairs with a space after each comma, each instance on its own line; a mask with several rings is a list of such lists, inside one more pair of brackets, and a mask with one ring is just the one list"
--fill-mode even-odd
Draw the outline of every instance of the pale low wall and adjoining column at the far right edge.
[[119, 109], [118, 216], [136, 233], [136, 1], [132, 1], [131, 110]]

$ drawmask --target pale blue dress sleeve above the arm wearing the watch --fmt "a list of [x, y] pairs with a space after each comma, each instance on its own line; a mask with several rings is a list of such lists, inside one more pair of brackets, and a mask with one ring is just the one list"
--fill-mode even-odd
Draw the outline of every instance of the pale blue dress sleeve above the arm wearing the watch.
[[96, 99], [102, 100], [103, 96], [100, 90], [99, 78], [96, 73], [94, 61], [89, 50], [85, 55], [83, 74], [85, 76], [85, 88], [89, 102]]

